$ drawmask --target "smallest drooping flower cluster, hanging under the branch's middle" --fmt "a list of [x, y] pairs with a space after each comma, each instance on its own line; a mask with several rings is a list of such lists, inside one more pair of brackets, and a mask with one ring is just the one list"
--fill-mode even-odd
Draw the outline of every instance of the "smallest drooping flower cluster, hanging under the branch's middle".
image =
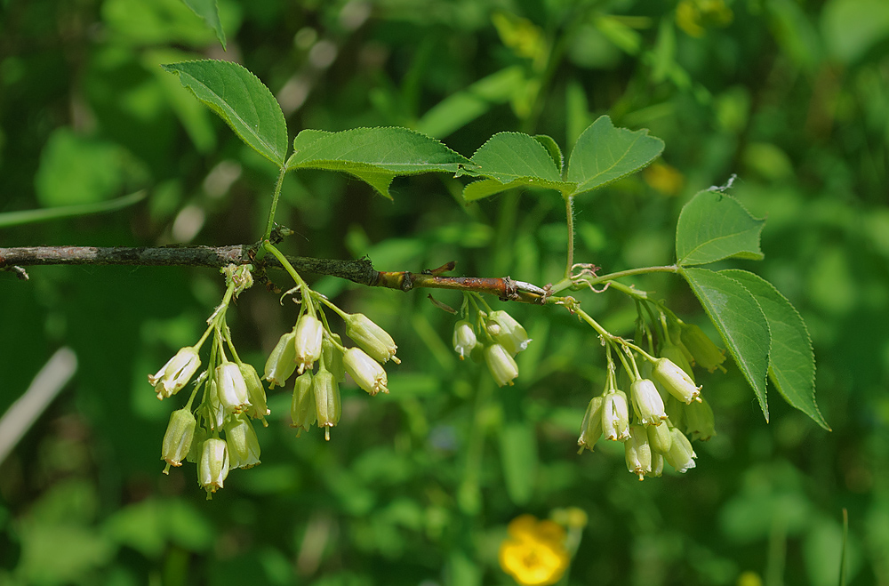
[[[466, 295], [463, 304], [465, 318], [457, 322], [453, 329], [453, 349], [463, 360], [471, 357], [477, 362], [485, 361], [494, 381], [502, 387], [512, 385], [518, 376], [516, 355], [527, 349], [531, 338], [525, 328], [506, 311], [493, 311], [484, 300], [485, 309], [478, 309], [477, 295]], [[472, 308], [469, 308], [469, 301]], [[472, 314], [471, 316], [469, 314]]]

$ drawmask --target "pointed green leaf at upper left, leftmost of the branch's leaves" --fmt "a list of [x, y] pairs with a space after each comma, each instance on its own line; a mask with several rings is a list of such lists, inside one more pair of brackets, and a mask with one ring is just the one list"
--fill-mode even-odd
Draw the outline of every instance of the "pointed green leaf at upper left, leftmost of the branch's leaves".
[[245, 143], [278, 166], [287, 156], [284, 113], [268, 87], [230, 61], [184, 61], [161, 66], [218, 114]]

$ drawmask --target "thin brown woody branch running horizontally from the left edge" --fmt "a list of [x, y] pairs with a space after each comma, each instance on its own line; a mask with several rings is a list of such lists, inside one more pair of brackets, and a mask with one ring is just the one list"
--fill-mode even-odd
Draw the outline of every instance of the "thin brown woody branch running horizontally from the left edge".
[[[187, 266], [219, 269], [228, 264], [256, 263], [252, 245], [228, 246], [26, 246], [0, 248], [0, 269], [15, 270], [24, 274], [23, 266], [55, 264], [89, 265], [138, 265], [138, 266]], [[370, 259], [337, 261], [304, 256], [288, 256], [287, 260], [298, 272], [338, 277], [369, 287], [387, 287], [407, 292], [416, 288], [451, 289], [497, 295], [502, 300], [542, 304], [547, 298], [543, 289], [536, 285], [516, 281], [509, 277], [444, 277], [456, 265], [449, 262], [434, 270], [420, 273], [410, 271], [381, 272], [373, 268]], [[281, 268], [270, 255], [260, 267]], [[27, 278], [27, 274], [25, 277]]]

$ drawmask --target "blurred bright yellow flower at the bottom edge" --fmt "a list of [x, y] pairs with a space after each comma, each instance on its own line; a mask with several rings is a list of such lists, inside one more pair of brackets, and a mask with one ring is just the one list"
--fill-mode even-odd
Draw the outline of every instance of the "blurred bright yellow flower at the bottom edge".
[[568, 567], [565, 530], [552, 521], [532, 515], [514, 518], [501, 543], [501, 568], [522, 586], [555, 584]]

